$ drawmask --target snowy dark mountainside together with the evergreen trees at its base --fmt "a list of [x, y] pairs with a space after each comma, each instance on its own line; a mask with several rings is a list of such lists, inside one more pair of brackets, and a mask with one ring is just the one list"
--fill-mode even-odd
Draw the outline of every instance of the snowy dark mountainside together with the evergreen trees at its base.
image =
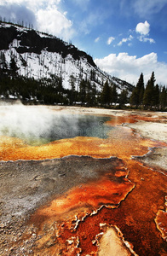
[[167, 107], [165, 85], [154, 73], [133, 86], [96, 67], [92, 57], [74, 45], [31, 27], [0, 21], [0, 98], [24, 103]]

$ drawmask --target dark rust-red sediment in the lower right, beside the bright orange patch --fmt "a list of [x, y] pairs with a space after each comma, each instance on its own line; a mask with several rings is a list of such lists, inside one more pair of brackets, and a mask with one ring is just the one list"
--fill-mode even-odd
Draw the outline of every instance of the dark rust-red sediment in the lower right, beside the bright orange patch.
[[[66, 212], [66, 218], [63, 216], [64, 221], [60, 222], [60, 226], [57, 229], [59, 235], [56, 237], [57, 243], [54, 245], [57, 248], [59, 247], [64, 255], [70, 255], [67, 248], [63, 249], [62, 245], [64, 246], [71, 237], [78, 237], [79, 248], [82, 250], [81, 255], [96, 255], [95, 237], [101, 233], [101, 223], [118, 226], [124, 235], [124, 240], [133, 245], [132, 247], [136, 254], [165, 255], [165, 245], [161, 239], [160, 232], [156, 228], [154, 218], [164, 201], [166, 193], [164, 183], [167, 183], [167, 177], [163, 177], [159, 172], [153, 172], [147, 166], [141, 166], [134, 160], [128, 162], [128, 169], [130, 170], [130, 180], [135, 182], [135, 189], [126, 197], [125, 201], [121, 202], [119, 207], [112, 209], [102, 207], [93, 216], [87, 213], [88, 208], [86, 208], [86, 211], [84, 207], [80, 208], [85, 218], [78, 223], [77, 229], [72, 228], [72, 220], [75, 226], [79, 219], [79, 207], [75, 209], [78, 218], [74, 218], [75, 211], [72, 212], [73, 218], [70, 212]], [[44, 208], [44, 212], [46, 212], [47, 208], [51, 210], [52, 207], [53, 205], [51, 204], [50, 208]], [[40, 210], [38, 213], [40, 213]], [[37, 218], [40, 219], [39, 216]], [[33, 219], [33, 223], [36, 223], [36, 225], [37, 218]], [[49, 218], [46, 222], [44, 221], [43, 229], [41, 230], [40, 228], [38, 235], [41, 236], [44, 232], [44, 227], [51, 223], [54, 223], [53, 218]], [[47, 232], [46, 234], [45, 236], [49, 239], [49, 234]], [[52, 254], [54, 245], [46, 248], [44, 239], [37, 240], [37, 250], [42, 250], [45, 255], [56, 255]]]

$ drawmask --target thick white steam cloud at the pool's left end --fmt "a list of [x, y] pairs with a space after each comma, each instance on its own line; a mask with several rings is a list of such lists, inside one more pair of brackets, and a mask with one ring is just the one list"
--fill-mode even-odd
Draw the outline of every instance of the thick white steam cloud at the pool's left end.
[[52, 119], [53, 115], [47, 108], [0, 106], [0, 135], [38, 138], [49, 131]]

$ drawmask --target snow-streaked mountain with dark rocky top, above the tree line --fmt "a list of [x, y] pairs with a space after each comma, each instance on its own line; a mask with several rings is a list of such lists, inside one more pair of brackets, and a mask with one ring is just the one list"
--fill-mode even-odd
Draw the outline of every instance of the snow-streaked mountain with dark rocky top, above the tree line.
[[[102, 72], [90, 55], [74, 45], [48, 33], [2, 21], [0, 72], [10, 79], [17, 76], [29, 79], [29, 82], [45, 81], [43, 83], [46, 86], [50, 80], [61, 81], [64, 90], [81, 90], [83, 80], [89, 80], [89, 86], [99, 93], [107, 80], [116, 84], [118, 93], [124, 89], [131, 93], [134, 88], [131, 84]], [[0, 91], [1, 95], [2, 93]], [[10, 91], [10, 95], [11, 93], [15, 96], [17, 94], [14, 90]]]

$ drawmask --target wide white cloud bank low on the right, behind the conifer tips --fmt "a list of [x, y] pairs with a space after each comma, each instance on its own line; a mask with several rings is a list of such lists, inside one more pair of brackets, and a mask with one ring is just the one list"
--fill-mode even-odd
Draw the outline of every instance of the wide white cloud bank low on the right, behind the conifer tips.
[[103, 59], [95, 59], [95, 63], [112, 76], [124, 79], [131, 84], [137, 83], [141, 73], [144, 74], [145, 84], [147, 84], [153, 71], [156, 83], [166, 84], [167, 81], [167, 64], [159, 62], [157, 54], [153, 52], [141, 58], [124, 52], [118, 55], [111, 54]]

